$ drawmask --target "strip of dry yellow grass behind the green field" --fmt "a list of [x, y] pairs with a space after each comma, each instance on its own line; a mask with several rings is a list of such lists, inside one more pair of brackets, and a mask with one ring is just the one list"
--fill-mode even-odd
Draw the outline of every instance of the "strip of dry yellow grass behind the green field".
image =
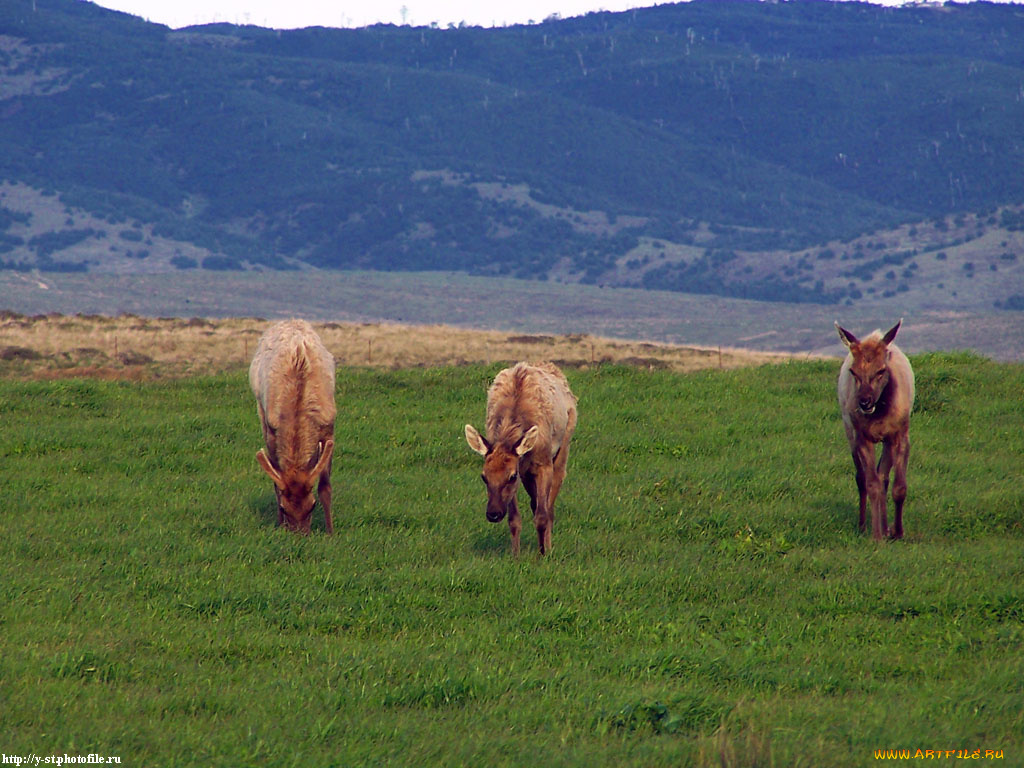
[[[132, 314], [0, 313], [0, 376], [148, 379], [245, 369], [270, 323]], [[449, 326], [313, 324], [339, 366], [381, 369], [549, 359], [573, 368], [613, 362], [696, 371], [779, 362], [792, 355], [586, 335], [471, 331]]]

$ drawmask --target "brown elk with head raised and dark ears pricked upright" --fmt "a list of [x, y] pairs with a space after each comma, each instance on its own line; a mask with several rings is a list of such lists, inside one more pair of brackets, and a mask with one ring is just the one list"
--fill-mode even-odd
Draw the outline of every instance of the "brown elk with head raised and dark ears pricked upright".
[[[906, 499], [906, 464], [910, 455], [910, 411], [913, 408], [913, 369], [906, 355], [892, 343], [900, 319], [885, 335], [874, 331], [863, 341], [842, 328], [839, 338], [850, 350], [839, 374], [839, 407], [850, 441], [860, 494], [860, 529], [864, 530], [867, 500], [871, 503], [871, 536], [903, 538], [903, 501]], [[874, 464], [874, 443], [882, 443], [882, 458]], [[896, 520], [886, 519], [889, 471], [893, 469], [893, 504]]]

